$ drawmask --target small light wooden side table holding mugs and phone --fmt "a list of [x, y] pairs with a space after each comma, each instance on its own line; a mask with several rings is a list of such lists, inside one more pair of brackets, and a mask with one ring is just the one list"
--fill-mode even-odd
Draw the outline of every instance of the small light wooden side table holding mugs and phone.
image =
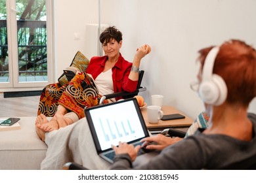
[[192, 120], [192, 118], [186, 116], [186, 114], [182, 113], [181, 111], [179, 111], [171, 106], [165, 105], [161, 108], [161, 110], [163, 111], [163, 115], [179, 113], [179, 114], [184, 115], [185, 118], [178, 119], [178, 120], [167, 120], [167, 121], [159, 120], [158, 124], [150, 124], [150, 123], [148, 123], [147, 109], [145, 107], [145, 108], [141, 109], [141, 112], [142, 112], [144, 121], [146, 123], [146, 127], [148, 127], [148, 130], [158, 131], [158, 130], [163, 130], [163, 129], [169, 128], [169, 127], [188, 128], [194, 122], [194, 120]]

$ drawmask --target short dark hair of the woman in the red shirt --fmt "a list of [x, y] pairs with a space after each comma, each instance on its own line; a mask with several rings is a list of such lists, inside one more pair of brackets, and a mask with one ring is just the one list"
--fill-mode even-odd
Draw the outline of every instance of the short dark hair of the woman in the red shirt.
[[118, 43], [123, 40], [123, 34], [115, 26], [107, 27], [100, 34], [100, 42], [110, 42], [112, 39], [115, 39]]

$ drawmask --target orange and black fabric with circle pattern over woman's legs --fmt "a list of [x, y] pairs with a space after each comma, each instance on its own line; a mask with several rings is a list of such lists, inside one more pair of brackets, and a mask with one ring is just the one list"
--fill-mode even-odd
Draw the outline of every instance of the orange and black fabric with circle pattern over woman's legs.
[[81, 72], [64, 86], [59, 83], [46, 86], [41, 93], [37, 115], [54, 116], [58, 105], [62, 105], [81, 119], [85, 117], [84, 108], [98, 105], [101, 97], [93, 79]]

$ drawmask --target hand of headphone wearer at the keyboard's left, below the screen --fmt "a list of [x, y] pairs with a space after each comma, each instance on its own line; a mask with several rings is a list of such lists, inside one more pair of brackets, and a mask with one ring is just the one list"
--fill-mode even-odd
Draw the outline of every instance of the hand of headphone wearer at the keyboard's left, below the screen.
[[140, 150], [140, 146], [134, 147], [133, 144], [127, 144], [126, 142], [119, 142], [119, 146], [112, 145], [116, 154], [129, 154], [132, 161], [135, 161], [137, 154]]

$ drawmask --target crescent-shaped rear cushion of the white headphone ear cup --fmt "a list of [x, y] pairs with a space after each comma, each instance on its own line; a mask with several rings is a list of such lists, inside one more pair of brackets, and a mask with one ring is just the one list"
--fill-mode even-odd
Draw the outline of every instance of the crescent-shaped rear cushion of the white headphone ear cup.
[[213, 74], [212, 80], [219, 90], [219, 96], [213, 105], [222, 105], [224, 101], [226, 101], [226, 96], [228, 95], [228, 88], [226, 87], [226, 83], [221, 76], [215, 74]]

